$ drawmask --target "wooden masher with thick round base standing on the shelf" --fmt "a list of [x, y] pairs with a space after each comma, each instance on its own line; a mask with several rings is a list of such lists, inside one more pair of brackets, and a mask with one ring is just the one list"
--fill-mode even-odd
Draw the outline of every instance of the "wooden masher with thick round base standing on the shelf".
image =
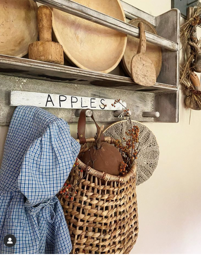
[[52, 42], [52, 11], [48, 6], [38, 8], [40, 41], [29, 45], [29, 59], [64, 65], [63, 47]]

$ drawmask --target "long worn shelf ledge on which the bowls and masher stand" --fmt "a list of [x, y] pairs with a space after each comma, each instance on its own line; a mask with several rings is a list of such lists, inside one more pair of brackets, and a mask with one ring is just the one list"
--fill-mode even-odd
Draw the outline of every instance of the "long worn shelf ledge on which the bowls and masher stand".
[[168, 91], [177, 90], [171, 84], [156, 83], [154, 86], [140, 86], [132, 78], [53, 63], [0, 55], [0, 72], [22, 77], [32, 77], [51, 81], [63, 81], [92, 86], [115, 87], [133, 91]]

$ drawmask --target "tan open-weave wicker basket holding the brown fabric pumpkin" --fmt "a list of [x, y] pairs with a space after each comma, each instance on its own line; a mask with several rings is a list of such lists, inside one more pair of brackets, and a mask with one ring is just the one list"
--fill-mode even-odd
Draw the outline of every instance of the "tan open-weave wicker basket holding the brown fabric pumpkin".
[[[105, 141], [114, 139], [105, 137]], [[94, 142], [88, 138], [78, 158]], [[71, 254], [128, 254], [138, 236], [136, 163], [125, 176], [114, 176], [77, 162], [83, 173], [88, 169], [78, 184], [73, 169], [68, 177], [68, 183], [77, 184], [77, 194], [72, 194], [73, 200], [58, 196], [73, 244]]]

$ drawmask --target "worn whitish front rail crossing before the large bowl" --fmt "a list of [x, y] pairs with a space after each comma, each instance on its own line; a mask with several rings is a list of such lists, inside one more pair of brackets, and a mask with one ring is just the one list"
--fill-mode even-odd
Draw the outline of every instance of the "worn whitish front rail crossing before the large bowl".
[[[139, 28], [71, 0], [37, 0], [37, 2], [59, 9], [77, 17], [90, 20], [91, 22], [95, 22], [105, 27], [115, 29], [124, 34], [139, 38]], [[171, 51], [178, 50], [178, 44], [173, 41], [167, 40], [147, 31], [145, 34], [148, 42], [159, 45]]]

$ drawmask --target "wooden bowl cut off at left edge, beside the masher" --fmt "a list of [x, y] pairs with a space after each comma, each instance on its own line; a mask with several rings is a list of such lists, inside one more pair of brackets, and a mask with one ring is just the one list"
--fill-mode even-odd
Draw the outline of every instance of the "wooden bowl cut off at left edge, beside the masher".
[[38, 37], [37, 8], [32, 0], [0, 0], [0, 54], [28, 53]]

